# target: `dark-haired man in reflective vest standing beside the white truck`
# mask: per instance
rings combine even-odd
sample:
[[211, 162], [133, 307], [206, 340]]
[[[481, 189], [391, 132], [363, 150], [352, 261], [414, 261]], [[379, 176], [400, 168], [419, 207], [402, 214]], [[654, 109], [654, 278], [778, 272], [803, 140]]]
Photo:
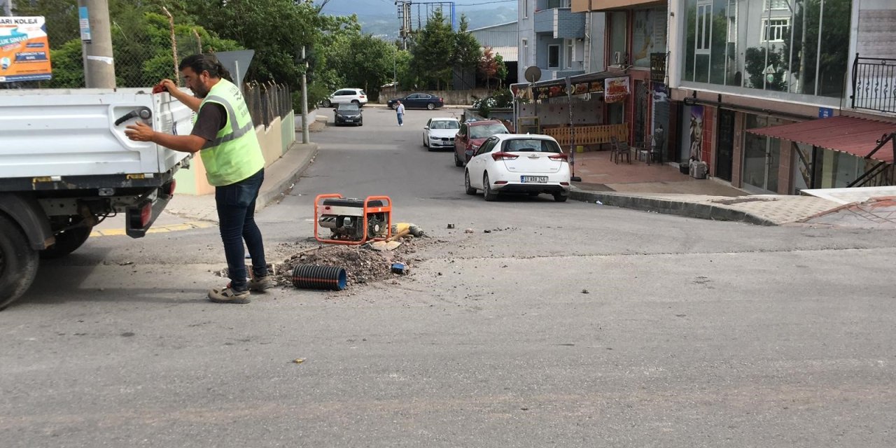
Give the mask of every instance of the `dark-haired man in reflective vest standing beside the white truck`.
[[[194, 97], [162, 80], [155, 90], [167, 90], [197, 112], [193, 132], [171, 135], [153, 131], [142, 122], [127, 126], [125, 134], [137, 142], [154, 142], [174, 151], [199, 152], [209, 184], [215, 187], [215, 202], [230, 283], [209, 290], [218, 303], [249, 303], [249, 290], [273, 286], [264, 260], [262, 232], [254, 220], [255, 200], [264, 180], [264, 157], [252, 116], [239, 88], [228, 81], [229, 73], [211, 55], [187, 56], [178, 69]], [[246, 253], [252, 257], [253, 278], [246, 281]]]

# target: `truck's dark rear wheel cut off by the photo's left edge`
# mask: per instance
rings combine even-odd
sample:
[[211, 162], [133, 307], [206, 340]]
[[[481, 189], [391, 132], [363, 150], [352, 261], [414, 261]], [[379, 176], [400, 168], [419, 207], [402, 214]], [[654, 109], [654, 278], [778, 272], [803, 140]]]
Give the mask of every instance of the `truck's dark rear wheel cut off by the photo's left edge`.
[[0, 310], [22, 296], [38, 272], [38, 251], [22, 228], [0, 215]]

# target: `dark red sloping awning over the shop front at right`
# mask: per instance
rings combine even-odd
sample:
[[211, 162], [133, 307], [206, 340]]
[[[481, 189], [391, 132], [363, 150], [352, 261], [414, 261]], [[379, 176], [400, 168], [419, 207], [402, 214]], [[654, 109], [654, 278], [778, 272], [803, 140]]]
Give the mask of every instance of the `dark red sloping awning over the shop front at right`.
[[[866, 157], [874, 151], [877, 141], [884, 134], [896, 133], [896, 123], [854, 116], [833, 116], [791, 125], [747, 129], [746, 132]], [[871, 158], [893, 163], [893, 151], [890, 148], [881, 148], [881, 151], [874, 152]]]

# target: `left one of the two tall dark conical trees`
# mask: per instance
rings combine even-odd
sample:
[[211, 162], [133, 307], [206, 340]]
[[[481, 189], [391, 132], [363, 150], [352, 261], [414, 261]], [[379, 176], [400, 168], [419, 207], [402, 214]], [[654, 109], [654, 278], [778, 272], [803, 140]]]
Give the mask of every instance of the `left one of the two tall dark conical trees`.
[[418, 78], [435, 83], [435, 89], [441, 90], [451, 79], [454, 43], [451, 24], [445, 22], [442, 10], [435, 10], [411, 42], [411, 69]]

